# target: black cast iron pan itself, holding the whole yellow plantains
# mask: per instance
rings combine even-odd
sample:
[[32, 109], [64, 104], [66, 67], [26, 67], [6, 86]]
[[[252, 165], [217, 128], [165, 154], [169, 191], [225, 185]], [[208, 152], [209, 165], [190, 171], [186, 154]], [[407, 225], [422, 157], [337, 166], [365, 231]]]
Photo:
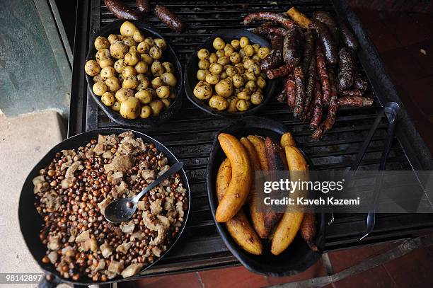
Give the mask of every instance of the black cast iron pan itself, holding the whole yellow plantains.
[[[262, 117], [246, 117], [238, 122], [221, 129], [219, 133], [229, 133], [240, 139], [250, 134], [258, 134], [263, 137], [271, 137], [275, 142], [279, 143], [281, 135], [288, 132], [287, 127], [279, 122], [269, 120]], [[303, 152], [304, 153], [304, 152]], [[305, 154], [304, 154], [305, 156]], [[238, 244], [233, 241], [230, 234], [226, 230], [224, 223], [219, 223], [215, 220], [215, 212], [217, 211], [217, 195], [215, 191], [215, 181], [217, 172], [222, 161], [226, 158], [224, 151], [219, 145], [217, 137], [215, 137], [212, 151], [207, 164], [206, 182], [207, 196], [209, 198], [209, 206], [212, 210], [215, 224], [219, 235], [223, 239], [227, 248], [238, 258], [238, 260], [251, 272], [271, 277], [284, 277], [295, 275], [299, 272], [311, 267], [316, 261], [321, 258], [321, 252], [313, 252], [308, 248], [306, 242], [299, 236], [296, 236], [291, 245], [278, 256], [270, 253], [270, 243], [262, 241], [263, 254], [253, 255], [246, 250], [243, 250]], [[306, 157], [308, 166], [312, 170], [312, 163]], [[247, 213], [248, 215], [248, 213]], [[320, 251], [323, 251], [325, 246], [325, 214], [318, 214], [318, 227], [315, 243]]]

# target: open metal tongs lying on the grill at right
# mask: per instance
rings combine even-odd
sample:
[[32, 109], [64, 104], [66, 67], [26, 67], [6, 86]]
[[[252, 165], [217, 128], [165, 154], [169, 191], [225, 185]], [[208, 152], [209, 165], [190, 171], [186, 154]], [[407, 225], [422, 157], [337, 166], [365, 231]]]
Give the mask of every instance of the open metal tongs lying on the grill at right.
[[379, 126], [379, 123], [381, 122], [381, 118], [383, 116], [383, 113], [386, 116], [386, 119], [388, 119], [389, 125], [386, 135], [386, 142], [385, 142], [385, 149], [383, 149], [381, 161], [379, 163], [379, 173], [375, 179], [374, 182], [374, 191], [372, 195], [372, 201], [369, 208], [369, 213], [367, 214], [366, 219], [366, 233], [362, 238], [359, 240], [364, 239], [366, 236], [368, 236], [371, 231], [374, 229], [374, 224], [376, 222], [376, 210], [379, 205], [379, 196], [381, 192], [381, 186], [382, 186], [382, 180], [383, 180], [383, 171], [386, 168], [386, 161], [388, 159], [389, 151], [391, 150], [391, 145], [393, 144], [393, 137], [394, 137], [394, 131], [396, 129], [396, 118], [398, 115], [398, 111], [400, 110], [400, 105], [395, 102], [388, 102], [385, 105], [385, 108], [381, 110], [379, 115], [377, 115], [376, 120], [374, 120], [374, 124], [371, 127], [369, 134], [367, 135], [364, 143], [361, 146], [361, 149], [359, 150], [357, 154], [357, 158], [352, 164], [352, 167], [350, 167], [350, 171], [356, 171], [359, 164], [362, 161], [362, 158], [364, 157], [364, 154], [366, 152], [366, 149], [369, 147], [369, 144], [371, 142], [371, 139], [373, 138], [374, 132], [376, 132], [377, 127]]

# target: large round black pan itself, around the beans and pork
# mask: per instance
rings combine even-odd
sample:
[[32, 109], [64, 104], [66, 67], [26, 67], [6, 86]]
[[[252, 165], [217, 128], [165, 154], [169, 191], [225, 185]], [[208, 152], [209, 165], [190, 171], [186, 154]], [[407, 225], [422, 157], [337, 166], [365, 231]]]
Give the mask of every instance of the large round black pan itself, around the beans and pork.
[[[42, 217], [40, 217], [40, 214], [37, 213], [35, 208], [35, 195], [33, 194], [32, 179], [35, 178], [37, 175], [39, 175], [40, 169], [45, 168], [50, 164], [50, 162], [54, 158], [54, 155], [57, 152], [63, 149], [76, 149], [79, 146], [82, 146], [83, 144], [90, 142], [91, 139], [98, 139], [98, 134], [103, 134], [103, 135], [120, 134], [122, 132], [127, 132], [127, 131], [129, 131], [129, 129], [104, 128], [104, 129], [96, 129], [96, 130], [84, 132], [74, 137], [68, 138], [63, 142], [54, 146], [36, 164], [36, 166], [32, 169], [32, 171], [30, 171], [29, 175], [25, 179], [23, 190], [21, 190], [20, 202], [18, 207], [18, 220], [20, 222], [21, 234], [23, 234], [25, 244], [27, 245], [28, 250], [30, 250], [30, 253], [32, 254], [37, 264], [39, 264], [42, 270], [55, 276], [54, 280], [52, 280], [51, 282], [45, 280], [44, 277], [42, 282], [40, 283], [40, 287], [55, 287], [60, 282], [69, 282], [71, 284], [78, 284], [78, 285], [89, 285], [89, 284], [98, 284], [98, 283], [103, 284], [103, 283], [123, 281], [122, 277], [116, 277], [115, 279], [107, 282], [93, 282], [91, 279], [88, 278], [82, 278], [79, 281], [75, 282], [72, 281], [70, 278], [65, 279], [64, 277], [60, 276], [59, 272], [55, 270], [54, 265], [52, 265], [51, 263], [49, 264], [42, 263], [42, 257], [45, 256], [45, 251], [47, 250], [47, 247], [44, 246], [39, 239], [40, 228], [42, 226], [43, 220]], [[136, 137], [142, 138], [144, 142], [154, 143], [156, 148], [167, 156], [169, 165], [173, 165], [173, 163], [178, 162], [178, 159], [171, 153], [171, 151], [168, 150], [166, 146], [163, 146], [163, 144], [161, 144], [160, 142], [147, 136], [146, 134], [142, 134], [136, 131], [132, 131], [132, 132]], [[182, 169], [179, 173], [182, 176], [183, 183], [185, 183], [185, 188], [187, 190], [187, 197], [188, 197], [188, 209], [185, 212], [184, 221], [182, 226], [180, 227], [180, 233], [173, 240], [172, 245], [168, 247], [166, 252], [164, 252], [163, 255], [161, 255], [161, 257], [158, 258], [154, 263], [151, 263], [150, 265], [144, 267], [142, 271], [147, 270], [150, 267], [152, 267], [155, 263], [158, 263], [158, 261], [161, 260], [164, 257], [164, 255], [166, 255], [168, 251], [171, 250], [171, 248], [173, 248], [173, 246], [175, 246], [175, 243], [178, 241], [180, 235], [183, 232], [183, 229], [185, 228], [188, 214], [190, 212], [190, 199], [191, 199], [190, 185], [188, 184], [185, 171]]]

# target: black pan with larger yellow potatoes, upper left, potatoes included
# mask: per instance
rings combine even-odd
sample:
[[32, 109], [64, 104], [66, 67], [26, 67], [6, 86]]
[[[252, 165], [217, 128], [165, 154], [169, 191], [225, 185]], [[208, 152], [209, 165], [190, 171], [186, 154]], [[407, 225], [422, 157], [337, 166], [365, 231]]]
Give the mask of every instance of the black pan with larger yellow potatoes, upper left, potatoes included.
[[84, 67], [88, 90], [110, 120], [149, 127], [178, 112], [182, 68], [155, 28], [140, 21], [114, 21], [92, 43]]

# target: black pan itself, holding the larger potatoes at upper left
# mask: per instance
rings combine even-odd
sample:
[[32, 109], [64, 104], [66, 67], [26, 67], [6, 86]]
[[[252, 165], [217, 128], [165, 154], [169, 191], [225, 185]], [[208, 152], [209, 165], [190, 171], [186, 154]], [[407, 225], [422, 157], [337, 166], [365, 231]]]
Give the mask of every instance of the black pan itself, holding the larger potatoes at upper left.
[[[91, 46], [89, 47], [89, 50], [88, 50], [88, 53], [86, 56], [86, 62], [88, 60], [94, 60], [95, 59], [96, 48], [95, 48], [95, 45], [93, 45], [93, 42], [95, 42], [95, 39], [98, 36], [103, 36], [105, 38], [108, 38], [108, 36], [110, 34], [120, 34], [120, 25], [122, 25], [122, 23], [124, 23], [124, 22], [125, 22], [125, 20], [114, 21], [114, 22], [106, 25], [104, 28], [99, 30], [98, 33], [96, 33], [93, 36], [92, 41], [91, 41]], [[151, 25], [149, 25], [147, 23], [143, 23], [140, 21], [134, 21], [134, 20], [129, 20], [129, 22], [134, 23], [134, 25], [136, 25], [137, 28], [142, 30], [145, 37], [164, 39], [162, 37], [162, 35], [157, 32], [156, 28], [152, 27]], [[166, 40], [166, 39], [164, 39], [164, 40]], [[88, 91], [91, 93], [93, 100], [95, 100], [96, 103], [98, 103], [99, 107], [105, 112], [105, 114], [107, 114], [107, 116], [112, 121], [116, 122], [117, 124], [129, 126], [129, 127], [149, 127], [149, 126], [153, 126], [153, 125], [159, 125], [162, 122], [165, 122], [166, 120], [171, 119], [171, 117], [173, 117], [173, 115], [175, 115], [175, 113], [178, 112], [178, 110], [180, 109], [180, 106], [182, 106], [182, 97], [183, 97], [183, 95], [182, 95], [182, 93], [183, 93], [182, 67], [180, 66], [180, 62], [178, 60], [178, 57], [176, 56], [173, 48], [171, 47], [171, 45], [168, 43], [167, 40], [166, 40], [166, 43], [167, 43], [167, 48], [163, 52], [163, 57], [160, 59], [160, 61], [161, 62], [165, 62], [165, 61], [171, 62], [171, 64], [173, 64], [173, 66], [175, 67], [175, 73], [174, 74], [176, 76], [176, 79], [178, 80], [178, 83], [176, 84], [176, 87], [175, 87], [177, 97], [171, 103], [170, 107], [168, 107], [168, 109], [161, 112], [158, 116], [151, 116], [151, 117], [146, 118], [146, 119], [142, 119], [140, 117], [138, 117], [137, 119], [134, 119], [134, 120], [125, 119], [124, 117], [122, 117], [120, 115], [120, 113], [115, 112], [110, 107], [105, 106], [104, 103], [102, 103], [102, 101], [100, 100], [100, 96], [97, 96], [95, 93], [93, 93], [93, 90], [92, 90], [93, 83], [94, 83], [93, 82], [93, 76], [88, 76], [86, 74]], [[84, 67], [83, 67], [83, 69], [84, 69]], [[150, 69], [150, 67], [149, 67], [149, 69]]]

